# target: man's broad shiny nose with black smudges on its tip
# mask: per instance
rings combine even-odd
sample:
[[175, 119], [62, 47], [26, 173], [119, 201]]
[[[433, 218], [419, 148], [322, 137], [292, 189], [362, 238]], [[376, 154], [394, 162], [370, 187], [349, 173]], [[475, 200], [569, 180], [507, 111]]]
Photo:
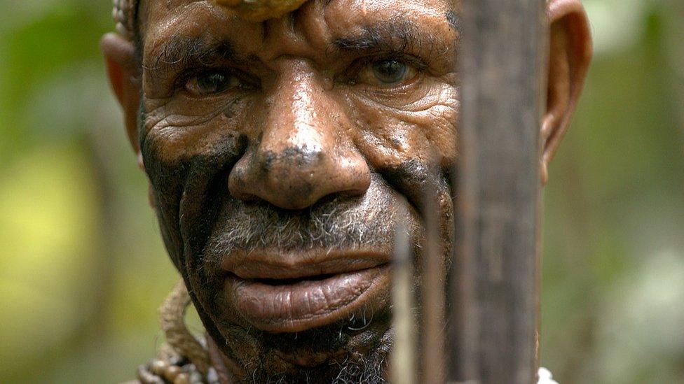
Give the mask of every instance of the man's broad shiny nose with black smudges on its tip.
[[345, 114], [309, 64], [288, 67], [267, 94], [261, 141], [231, 171], [231, 194], [285, 209], [332, 194], [363, 194], [370, 170], [348, 136]]

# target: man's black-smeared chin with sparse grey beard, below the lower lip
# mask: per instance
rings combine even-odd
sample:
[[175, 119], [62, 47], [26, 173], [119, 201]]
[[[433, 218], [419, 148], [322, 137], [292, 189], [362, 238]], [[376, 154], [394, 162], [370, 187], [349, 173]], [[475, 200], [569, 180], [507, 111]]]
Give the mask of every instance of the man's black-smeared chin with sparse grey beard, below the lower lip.
[[383, 383], [391, 347], [390, 311], [362, 313], [301, 332], [224, 325], [217, 336], [226, 366], [251, 383]]

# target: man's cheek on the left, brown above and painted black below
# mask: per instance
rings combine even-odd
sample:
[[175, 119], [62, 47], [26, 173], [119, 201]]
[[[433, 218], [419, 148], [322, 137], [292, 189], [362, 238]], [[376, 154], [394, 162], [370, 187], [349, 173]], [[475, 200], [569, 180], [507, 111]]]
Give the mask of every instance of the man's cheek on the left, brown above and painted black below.
[[146, 113], [140, 148], [165, 245], [182, 270], [182, 219], [184, 215], [191, 218], [187, 213], [193, 210], [188, 201], [183, 210], [184, 196], [193, 197], [189, 199], [191, 202], [204, 204], [202, 197], [207, 195], [210, 178], [230, 166], [242, 152], [244, 143], [238, 131], [231, 127], [236, 127], [242, 119], [244, 108], [237, 108], [239, 104], [221, 104], [223, 108], [213, 110], [221, 112], [209, 113], [201, 108], [176, 106], [170, 102]]

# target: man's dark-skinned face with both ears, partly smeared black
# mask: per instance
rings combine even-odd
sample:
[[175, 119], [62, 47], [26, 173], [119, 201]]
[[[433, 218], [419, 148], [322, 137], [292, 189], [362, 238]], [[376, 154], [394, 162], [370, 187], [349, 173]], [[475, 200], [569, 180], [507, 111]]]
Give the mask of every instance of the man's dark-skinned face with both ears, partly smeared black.
[[[425, 191], [451, 247], [458, 8], [308, 1], [249, 22], [206, 1], [143, 0], [137, 50], [102, 39], [224, 380], [385, 376], [394, 228], [406, 222], [420, 244]], [[548, 16], [541, 183], [591, 57], [578, 0], [550, 1]]]

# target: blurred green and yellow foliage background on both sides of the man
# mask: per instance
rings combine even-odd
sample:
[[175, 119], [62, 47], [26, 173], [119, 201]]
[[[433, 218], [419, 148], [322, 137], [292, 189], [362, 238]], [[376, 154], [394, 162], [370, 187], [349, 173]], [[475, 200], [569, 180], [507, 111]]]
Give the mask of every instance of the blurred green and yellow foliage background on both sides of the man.
[[[684, 2], [584, 4], [596, 55], [545, 190], [541, 361], [561, 383], [684, 383]], [[118, 383], [163, 341], [177, 275], [97, 48], [110, 14], [0, 2], [1, 383]]]

